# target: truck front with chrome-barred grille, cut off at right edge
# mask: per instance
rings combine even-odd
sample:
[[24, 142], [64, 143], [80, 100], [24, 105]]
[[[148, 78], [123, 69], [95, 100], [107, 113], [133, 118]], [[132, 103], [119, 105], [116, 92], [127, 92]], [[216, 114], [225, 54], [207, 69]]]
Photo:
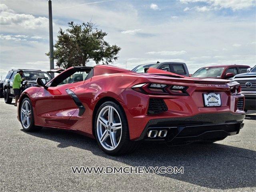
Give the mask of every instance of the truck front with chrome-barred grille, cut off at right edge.
[[256, 110], [256, 66], [249, 72], [234, 76], [234, 81], [240, 83], [245, 96], [245, 111]]

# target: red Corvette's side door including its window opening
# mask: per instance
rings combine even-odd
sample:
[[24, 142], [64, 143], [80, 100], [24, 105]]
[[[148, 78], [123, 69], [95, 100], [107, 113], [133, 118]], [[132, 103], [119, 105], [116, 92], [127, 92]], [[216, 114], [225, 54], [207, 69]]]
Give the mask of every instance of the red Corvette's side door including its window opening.
[[35, 102], [39, 125], [67, 129], [71, 127], [68, 121], [79, 108], [72, 93], [84, 84], [87, 74], [88, 70], [71, 68], [54, 78], [47, 85], [47, 90], [39, 90]]

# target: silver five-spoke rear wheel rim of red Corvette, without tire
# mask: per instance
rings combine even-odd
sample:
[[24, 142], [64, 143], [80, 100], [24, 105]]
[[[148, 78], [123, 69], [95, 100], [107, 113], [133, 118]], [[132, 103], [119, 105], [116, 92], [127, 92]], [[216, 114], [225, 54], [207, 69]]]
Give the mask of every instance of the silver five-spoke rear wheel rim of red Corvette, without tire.
[[96, 129], [100, 144], [106, 150], [114, 150], [118, 146], [122, 136], [122, 122], [114, 107], [105, 106], [100, 110]]

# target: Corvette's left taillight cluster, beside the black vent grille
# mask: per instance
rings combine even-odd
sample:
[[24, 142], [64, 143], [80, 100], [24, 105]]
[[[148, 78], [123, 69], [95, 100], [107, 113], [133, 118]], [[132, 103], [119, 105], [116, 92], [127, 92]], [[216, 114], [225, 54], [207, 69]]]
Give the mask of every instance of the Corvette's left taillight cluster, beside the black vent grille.
[[188, 95], [186, 86], [144, 83], [132, 86], [134, 91], [153, 95]]

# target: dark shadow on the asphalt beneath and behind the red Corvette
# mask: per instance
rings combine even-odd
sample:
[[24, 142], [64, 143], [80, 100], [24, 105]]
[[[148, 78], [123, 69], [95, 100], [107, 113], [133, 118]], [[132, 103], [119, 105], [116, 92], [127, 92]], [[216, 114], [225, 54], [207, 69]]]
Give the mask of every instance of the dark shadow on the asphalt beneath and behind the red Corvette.
[[[143, 143], [132, 154], [108, 156], [98, 148], [96, 140], [65, 130], [43, 128], [27, 134], [68, 146], [90, 150], [129, 166], [184, 166], [184, 174], [159, 174], [198, 186], [213, 189], [255, 187], [256, 153], [252, 150], [223, 144], [190, 144], [168, 147], [165, 144]], [[77, 165], [83, 166], [83, 165]], [[108, 166], [107, 164], [102, 166]]]

